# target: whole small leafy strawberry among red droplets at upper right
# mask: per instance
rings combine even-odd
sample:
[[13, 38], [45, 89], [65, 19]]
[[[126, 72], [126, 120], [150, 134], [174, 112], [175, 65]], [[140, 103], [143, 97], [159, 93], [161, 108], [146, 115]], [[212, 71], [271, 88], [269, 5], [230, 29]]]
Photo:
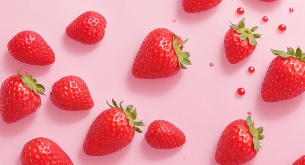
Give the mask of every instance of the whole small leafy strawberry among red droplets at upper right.
[[225, 51], [229, 62], [236, 64], [253, 53], [257, 46], [255, 38], [260, 38], [261, 35], [253, 34], [257, 26], [252, 29], [245, 27], [245, 18], [238, 25], [231, 23], [230, 27], [225, 36]]

